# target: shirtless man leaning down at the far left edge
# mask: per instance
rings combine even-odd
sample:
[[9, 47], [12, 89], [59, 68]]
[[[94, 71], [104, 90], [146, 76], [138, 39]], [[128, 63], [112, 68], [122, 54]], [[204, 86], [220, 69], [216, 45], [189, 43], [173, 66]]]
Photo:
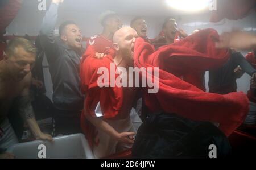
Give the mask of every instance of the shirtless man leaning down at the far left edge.
[[[7, 45], [4, 59], [0, 61], [0, 150], [18, 143], [7, 113], [11, 103], [18, 102], [19, 113], [39, 140], [53, 140], [51, 135], [40, 131], [30, 103], [29, 89], [31, 69], [35, 63], [36, 48], [24, 38], [15, 38]], [[0, 157], [14, 157], [9, 153]]]

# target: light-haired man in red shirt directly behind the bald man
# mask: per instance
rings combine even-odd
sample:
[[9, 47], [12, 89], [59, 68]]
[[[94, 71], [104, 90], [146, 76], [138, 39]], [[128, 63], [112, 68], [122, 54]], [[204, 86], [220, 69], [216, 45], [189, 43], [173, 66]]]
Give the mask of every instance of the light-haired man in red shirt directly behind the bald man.
[[113, 44], [113, 35], [122, 26], [121, 19], [113, 11], [106, 11], [100, 16], [100, 23], [103, 27], [101, 34], [92, 36], [88, 42], [87, 47], [92, 45], [95, 52], [108, 53], [108, 50]]

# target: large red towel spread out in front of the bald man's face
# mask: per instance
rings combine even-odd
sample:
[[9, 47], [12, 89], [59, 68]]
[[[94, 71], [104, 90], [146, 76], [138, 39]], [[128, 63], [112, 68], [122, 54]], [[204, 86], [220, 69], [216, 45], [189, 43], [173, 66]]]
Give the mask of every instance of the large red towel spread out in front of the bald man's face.
[[[218, 38], [215, 30], [202, 30], [158, 51], [142, 38], [137, 39], [134, 48], [135, 67], [159, 67], [159, 92], [144, 93], [148, 109], [176, 113], [195, 121], [219, 122], [220, 129], [227, 136], [242, 124], [249, 110], [245, 94], [205, 93], [176, 77], [187, 76], [195, 71], [204, 72], [225, 63], [230, 55], [227, 50], [215, 48]], [[154, 77], [147, 78], [156, 81]], [[198, 81], [193, 80], [194, 83]]]

